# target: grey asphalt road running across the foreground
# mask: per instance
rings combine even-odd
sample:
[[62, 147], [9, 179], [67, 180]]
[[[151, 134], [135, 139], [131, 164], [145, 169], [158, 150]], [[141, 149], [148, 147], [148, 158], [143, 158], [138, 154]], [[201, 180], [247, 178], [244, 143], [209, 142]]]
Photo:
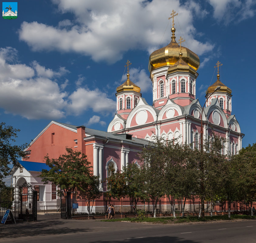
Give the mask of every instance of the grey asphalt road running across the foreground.
[[37, 222], [1, 225], [0, 236], [6, 243], [256, 243], [256, 220], [166, 225], [42, 216]]

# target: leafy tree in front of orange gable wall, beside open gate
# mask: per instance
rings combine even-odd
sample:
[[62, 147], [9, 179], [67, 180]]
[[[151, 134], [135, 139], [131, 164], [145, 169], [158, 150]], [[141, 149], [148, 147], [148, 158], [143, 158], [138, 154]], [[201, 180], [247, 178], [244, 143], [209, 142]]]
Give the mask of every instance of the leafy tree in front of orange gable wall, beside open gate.
[[81, 151], [73, 151], [66, 148], [67, 153], [62, 154], [57, 159], [50, 159], [48, 154], [45, 163], [50, 170], [42, 170], [42, 181], [45, 184], [53, 182], [60, 189], [71, 191], [73, 198], [75, 193], [86, 196], [87, 200], [95, 199], [99, 193], [99, 178], [92, 173], [92, 166], [87, 160], [87, 156]]

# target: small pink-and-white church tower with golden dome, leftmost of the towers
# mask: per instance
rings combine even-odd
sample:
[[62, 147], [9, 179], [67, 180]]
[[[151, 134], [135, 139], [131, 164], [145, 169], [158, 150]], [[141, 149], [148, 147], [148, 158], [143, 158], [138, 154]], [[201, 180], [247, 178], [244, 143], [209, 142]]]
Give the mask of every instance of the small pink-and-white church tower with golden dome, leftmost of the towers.
[[127, 60], [127, 80], [116, 89], [116, 109], [117, 113], [123, 118], [127, 119], [131, 110], [138, 104], [139, 98], [141, 97], [140, 87], [135, 85], [130, 80], [129, 65], [131, 62]]

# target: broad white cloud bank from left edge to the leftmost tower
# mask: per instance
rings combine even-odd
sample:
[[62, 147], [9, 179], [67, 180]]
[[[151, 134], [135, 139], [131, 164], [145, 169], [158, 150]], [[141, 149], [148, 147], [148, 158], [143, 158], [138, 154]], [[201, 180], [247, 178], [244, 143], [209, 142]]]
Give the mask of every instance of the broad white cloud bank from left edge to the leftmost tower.
[[[68, 72], [64, 67], [54, 71], [36, 61], [30, 66], [10, 64], [7, 60], [13, 60], [10, 58], [12, 55], [17, 57], [16, 49], [0, 49], [0, 107], [5, 113], [27, 119], [56, 120], [65, 117], [70, 109], [74, 110], [76, 115], [90, 108], [103, 114], [112, 112], [113, 107], [115, 109], [115, 102], [109, 99], [107, 94], [100, 95], [98, 89], [77, 89], [68, 96], [63, 91], [69, 82], [68, 79], [60, 86], [55, 80]], [[79, 104], [80, 102], [82, 104]], [[100, 121], [99, 123], [103, 124]]]

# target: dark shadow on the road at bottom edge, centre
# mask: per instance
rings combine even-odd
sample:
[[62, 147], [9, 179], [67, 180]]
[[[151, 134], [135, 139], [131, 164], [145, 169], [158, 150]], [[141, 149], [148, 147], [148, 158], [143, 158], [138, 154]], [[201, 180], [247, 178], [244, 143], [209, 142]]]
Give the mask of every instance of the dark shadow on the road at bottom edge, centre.
[[126, 240], [121, 240], [121, 241], [91, 241], [91, 243], [121, 243], [121, 242], [126, 242], [126, 243], [142, 243], [142, 242], [147, 242], [147, 243], [202, 243], [203, 241], [192, 241], [192, 240], [186, 240], [183, 238], [178, 238], [178, 237], [170, 237], [170, 236], [160, 236], [160, 237], [143, 237], [143, 238], [130, 238]]

